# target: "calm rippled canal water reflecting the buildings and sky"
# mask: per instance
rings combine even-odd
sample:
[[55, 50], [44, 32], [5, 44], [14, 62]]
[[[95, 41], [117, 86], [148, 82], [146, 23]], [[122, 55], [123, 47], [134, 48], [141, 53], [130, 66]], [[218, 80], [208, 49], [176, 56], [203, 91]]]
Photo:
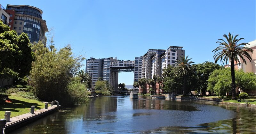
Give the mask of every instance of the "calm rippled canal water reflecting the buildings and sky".
[[204, 101], [97, 97], [12, 133], [256, 133], [255, 112]]

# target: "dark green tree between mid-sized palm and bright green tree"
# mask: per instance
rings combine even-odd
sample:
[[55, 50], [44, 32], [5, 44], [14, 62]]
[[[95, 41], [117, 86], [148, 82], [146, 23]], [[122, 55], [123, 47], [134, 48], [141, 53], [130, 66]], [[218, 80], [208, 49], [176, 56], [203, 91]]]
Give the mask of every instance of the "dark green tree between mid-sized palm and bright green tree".
[[215, 64], [213, 62], [204, 62], [196, 65], [196, 85], [198, 91], [202, 92], [205, 95], [207, 89], [207, 80], [209, 79], [210, 74], [216, 69], [222, 69], [223, 66]]

